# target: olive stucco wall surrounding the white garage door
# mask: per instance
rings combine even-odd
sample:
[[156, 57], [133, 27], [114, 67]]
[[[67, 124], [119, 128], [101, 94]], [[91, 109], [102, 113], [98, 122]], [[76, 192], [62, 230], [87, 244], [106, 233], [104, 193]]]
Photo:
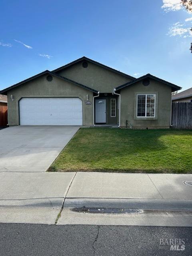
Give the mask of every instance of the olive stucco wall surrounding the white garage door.
[[[93, 92], [55, 76], [51, 82], [48, 82], [46, 76], [47, 74], [8, 91], [8, 124], [19, 125], [19, 100], [23, 97], [78, 97], [82, 100], [83, 125], [92, 125]], [[11, 94], [14, 96], [14, 101], [10, 98]], [[89, 101], [92, 102], [91, 105], [86, 105], [87, 94]]]

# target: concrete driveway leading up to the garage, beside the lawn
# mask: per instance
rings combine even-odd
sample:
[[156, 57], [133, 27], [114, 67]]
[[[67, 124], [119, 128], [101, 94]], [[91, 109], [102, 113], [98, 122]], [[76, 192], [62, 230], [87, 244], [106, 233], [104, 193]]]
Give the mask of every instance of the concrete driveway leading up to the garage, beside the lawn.
[[0, 172], [45, 172], [79, 126], [13, 126], [0, 130]]

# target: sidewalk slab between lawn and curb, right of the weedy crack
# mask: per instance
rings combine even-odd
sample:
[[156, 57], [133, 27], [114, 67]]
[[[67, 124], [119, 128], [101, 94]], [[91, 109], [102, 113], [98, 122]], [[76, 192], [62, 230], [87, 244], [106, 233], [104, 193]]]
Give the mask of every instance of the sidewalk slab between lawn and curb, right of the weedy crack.
[[78, 172], [69, 198], [192, 199], [192, 174]]

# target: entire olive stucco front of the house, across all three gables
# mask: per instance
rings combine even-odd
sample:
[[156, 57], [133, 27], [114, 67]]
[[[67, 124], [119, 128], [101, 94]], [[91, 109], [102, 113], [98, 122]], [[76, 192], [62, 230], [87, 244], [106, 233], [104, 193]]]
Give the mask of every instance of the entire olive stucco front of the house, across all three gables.
[[[127, 82], [124, 79], [128, 80], [128, 78], [122, 78], [121, 76], [119, 78], [118, 74], [101, 68], [101, 70], [104, 70], [101, 71], [103, 76], [106, 72], [109, 72], [109, 74], [107, 73], [106, 77], [104, 77], [102, 80], [101, 78], [98, 78], [99, 71], [97, 70], [97, 66], [95, 64], [90, 63], [88, 67], [90, 67], [90, 71], [88, 71], [87, 75], [84, 75], [84, 70], [87, 72], [88, 68], [82, 68], [82, 64], [79, 66], [77, 64], [76, 69], [72, 67], [71, 71], [68, 70], [68, 78], [77, 80], [77, 82], [81, 82], [82, 84], [99, 90], [99, 88], [96, 88], [95, 85], [93, 86], [93, 84], [90, 84], [90, 82], [93, 82], [98, 86], [103, 86], [105, 88], [103, 89], [103, 92], [105, 92], [104, 90], [113, 90], [113, 88], [117, 86], [117, 80], [121, 80], [120, 84]], [[77, 76], [75, 75], [75, 70], [77, 70]], [[90, 78], [88, 78], [89, 72], [92, 73]], [[51, 82], [48, 82], [46, 80], [46, 76], [47, 74], [8, 91], [8, 124], [10, 126], [19, 125], [19, 100], [23, 97], [78, 97], [82, 100], [83, 125], [93, 125], [93, 92], [70, 82], [66, 82], [55, 76], [53, 76], [53, 80]], [[114, 81], [114, 77], [116, 77], [116, 81]], [[77, 78], [79, 78], [79, 80]], [[124, 81], [122, 82], [122, 80]], [[106, 84], [107, 86], [105, 86]], [[143, 86], [141, 81], [118, 91], [118, 93], [120, 92], [121, 94], [120, 125], [126, 126], [126, 120], [128, 120], [128, 126], [131, 124], [133, 128], [169, 128], [171, 118], [171, 90], [172, 88], [170, 86], [150, 79], [149, 86]], [[14, 96], [14, 101], [12, 101], [10, 98], [11, 94]], [[86, 105], [87, 94], [89, 96], [89, 101], [92, 102], [91, 105]], [[156, 115], [154, 118], [143, 118], [136, 116], [137, 94], [156, 94]], [[106, 98], [108, 98], [106, 109], [108, 113], [107, 123], [118, 123], [118, 98], [117, 96], [110, 96]], [[115, 118], [110, 118], [109, 116], [110, 98], [116, 98]]]

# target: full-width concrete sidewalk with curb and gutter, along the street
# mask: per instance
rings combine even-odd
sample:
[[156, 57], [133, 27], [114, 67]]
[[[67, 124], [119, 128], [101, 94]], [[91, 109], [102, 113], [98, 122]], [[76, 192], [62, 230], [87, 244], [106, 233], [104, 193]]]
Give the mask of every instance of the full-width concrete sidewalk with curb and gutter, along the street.
[[[192, 226], [192, 174], [0, 173], [0, 222]], [[141, 214], [77, 208], [139, 209]]]

